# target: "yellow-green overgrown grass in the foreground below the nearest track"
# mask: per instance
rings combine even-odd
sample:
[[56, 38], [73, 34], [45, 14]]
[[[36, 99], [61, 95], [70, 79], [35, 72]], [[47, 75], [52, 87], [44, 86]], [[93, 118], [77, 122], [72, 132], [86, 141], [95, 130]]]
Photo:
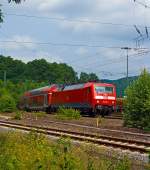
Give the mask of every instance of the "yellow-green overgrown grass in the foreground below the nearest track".
[[[88, 151], [87, 151], [88, 150]], [[69, 139], [50, 142], [31, 132], [0, 134], [0, 170], [130, 170], [128, 158], [92, 155], [93, 147], [72, 146]]]

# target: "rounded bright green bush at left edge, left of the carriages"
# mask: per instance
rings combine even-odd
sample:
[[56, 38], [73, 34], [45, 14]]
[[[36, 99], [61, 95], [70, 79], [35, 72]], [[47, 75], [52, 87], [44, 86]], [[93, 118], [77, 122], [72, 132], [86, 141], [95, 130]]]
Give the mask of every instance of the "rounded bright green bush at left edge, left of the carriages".
[[8, 94], [4, 94], [0, 97], [0, 111], [1, 112], [13, 112], [16, 110], [16, 102]]

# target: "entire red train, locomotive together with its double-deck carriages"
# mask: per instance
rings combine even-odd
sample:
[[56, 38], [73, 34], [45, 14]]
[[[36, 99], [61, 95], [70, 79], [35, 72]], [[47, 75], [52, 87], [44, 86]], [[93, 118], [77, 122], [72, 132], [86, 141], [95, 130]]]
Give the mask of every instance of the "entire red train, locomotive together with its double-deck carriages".
[[66, 86], [53, 84], [25, 92], [18, 106], [26, 111], [48, 113], [65, 107], [79, 109], [81, 113], [104, 116], [116, 109], [116, 87], [95, 82]]

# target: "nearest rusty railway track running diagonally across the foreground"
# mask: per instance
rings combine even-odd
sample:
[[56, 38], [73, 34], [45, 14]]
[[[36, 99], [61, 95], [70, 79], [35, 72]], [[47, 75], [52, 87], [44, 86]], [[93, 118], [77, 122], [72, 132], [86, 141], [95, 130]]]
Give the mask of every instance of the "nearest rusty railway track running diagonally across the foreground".
[[9, 121], [0, 121], [1, 127], [13, 128], [24, 131], [34, 131], [50, 136], [57, 137], [70, 137], [73, 140], [90, 142], [98, 145], [111, 146], [114, 148], [121, 148], [124, 150], [137, 151], [140, 153], [146, 153], [150, 149], [150, 142], [143, 142], [139, 140], [129, 140], [121, 139], [118, 137], [110, 137], [106, 135], [97, 136], [95, 134], [80, 133], [80, 132], [70, 132], [67, 130], [56, 129], [56, 128], [47, 128], [33, 125], [23, 125], [19, 123], [13, 123]]

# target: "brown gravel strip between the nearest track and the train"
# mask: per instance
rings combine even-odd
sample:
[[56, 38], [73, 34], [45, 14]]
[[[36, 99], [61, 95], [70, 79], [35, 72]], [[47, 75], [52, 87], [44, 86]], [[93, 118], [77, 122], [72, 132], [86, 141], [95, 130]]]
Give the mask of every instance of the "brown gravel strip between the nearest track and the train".
[[[66, 129], [68, 131], [94, 133], [97, 136], [108, 135], [113, 137], [121, 137], [125, 139], [150, 141], [150, 133], [145, 133], [144, 131], [135, 128], [123, 127], [123, 121], [120, 119], [102, 119], [101, 124], [97, 128], [96, 118], [91, 118], [91, 117], [81, 117], [79, 120], [58, 120], [56, 119], [56, 116], [54, 114], [46, 114], [42, 117], [36, 117], [35, 114], [33, 113], [24, 113], [22, 120], [14, 120], [12, 119], [14, 117], [14, 114], [15, 113], [0, 114], [0, 119], [3, 120], [5, 119], [9, 121], [11, 120], [13, 122], [23, 123], [23, 124], [38, 125], [42, 127]], [[62, 124], [62, 123], [66, 123], [66, 124]], [[114, 131], [109, 131], [107, 129], [114, 130]], [[119, 132], [118, 130], [120, 130], [121, 132]], [[124, 131], [125, 133], [123, 133], [122, 131]], [[149, 137], [138, 136], [136, 134], [131, 135], [131, 134], [127, 134], [126, 132], [149, 134]]]

